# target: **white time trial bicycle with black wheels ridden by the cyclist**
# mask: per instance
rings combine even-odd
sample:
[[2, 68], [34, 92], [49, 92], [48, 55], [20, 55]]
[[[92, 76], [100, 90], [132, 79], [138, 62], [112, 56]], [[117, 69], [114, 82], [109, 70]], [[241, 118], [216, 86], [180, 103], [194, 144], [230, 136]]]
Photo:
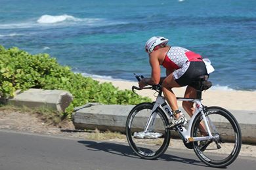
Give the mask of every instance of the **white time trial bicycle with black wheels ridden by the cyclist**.
[[[140, 80], [142, 76], [137, 76]], [[242, 135], [234, 116], [221, 107], [206, 107], [202, 104], [202, 91], [211, 86], [207, 76], [198, 77], [196, 98], [177, 97], [178, 101], [195, 103], [196, 110], [188, 123], [173, 130], [181, 137], [187, 148], [194, 149], [196, 156], [211, 167], [226, 167], [236, 158], [241, 149]], [[127, 117], [127, 141], [140, 158], [152, 160], [160, 157], [168, 148], [171, 130], [168, 125], [173, 112], [162, 96], [161, 85], [132, 90], [151, 89], [158, 93], [156, 101], [136, 105]], [[221, 154], [220, 154], [221, 153]]]

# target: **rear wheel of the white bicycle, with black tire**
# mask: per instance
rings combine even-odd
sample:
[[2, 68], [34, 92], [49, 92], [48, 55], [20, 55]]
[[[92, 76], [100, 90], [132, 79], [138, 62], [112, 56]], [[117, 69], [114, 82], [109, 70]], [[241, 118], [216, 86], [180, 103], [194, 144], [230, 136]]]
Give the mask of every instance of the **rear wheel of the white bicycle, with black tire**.
[[[234, 160], [236, 160], [238, 154], [240, 153], [242, 145], [242, 134], [240, 126], [236, 121], [236, 118], [234, 118], [234, 116], [230, 112], [228, 112], [228, 110], [221, 107], [208, 107], [207, 109], [205, 109], [205, 116], [210, 123], [209, 126], [212, 135], [215, 137], [218, 137], [219, 135], [219, 139], [215, 139], [213, 141], [206, 141], [204, 142], [204, 146], [203, 144], [202, 146], [200, 146], [200, 142], [194, 142], [194, 152], [196, 153], [196, 156], [198, 156], [198, 158], [203, 161], [203, 163], [209, 165], [210, 167], [226, 167], [230, 165], [230, 163], [232, 163]], [[222, 119], [222, 121], [219, 122], [219, 120], [217, 120], [216, 118]], [[215, 120], [215, 122], [213, 122], [213, 120]], [[202, 115], [198, 114], [192, 125], [192, 137], [198, 136], [201, 121]], [[224, 131], [224, 133], [219, 133], [219, 131]], [[213, 146], [213, 148], [211, 148], [211, 146]], [[227, 150], [229, 150], [229, 148], [232, 151], [225, 154], [221, 153], [221, 155], [219, 156], [216, 156], [212, 153], [215, 150], [219, 152], [219, 149], [221, 148], [224, 148], [225, 152], [228, 152]]]

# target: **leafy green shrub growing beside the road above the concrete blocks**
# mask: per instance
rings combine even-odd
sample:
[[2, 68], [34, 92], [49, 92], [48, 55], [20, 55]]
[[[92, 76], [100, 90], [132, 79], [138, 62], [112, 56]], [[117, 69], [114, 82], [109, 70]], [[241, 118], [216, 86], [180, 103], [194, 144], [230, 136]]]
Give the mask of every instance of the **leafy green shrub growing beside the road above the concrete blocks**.
[[88, 102], [103, 104], [135, 105], [150, 101], [135, 95], [131, 90], [118, 90], [111, 83], [102, 83], [90, 77], [73, 73], [70, 67], [59, 65], [49, 54], [29, 54], [16, 47], [0, 46], [0, 95], [13, 97], [16, 90], [42, 88], [68, 90], [74, 96], [66, 112]]

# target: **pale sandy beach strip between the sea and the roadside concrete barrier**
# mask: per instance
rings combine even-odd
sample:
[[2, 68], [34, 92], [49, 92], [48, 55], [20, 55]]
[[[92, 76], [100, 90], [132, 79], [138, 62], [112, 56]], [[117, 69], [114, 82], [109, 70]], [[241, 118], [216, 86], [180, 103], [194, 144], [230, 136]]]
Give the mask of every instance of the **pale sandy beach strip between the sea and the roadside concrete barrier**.
[[[124, 80], [105, 80], [100, 78], [94, 78], [100, 83], [112, 82], [114, 86], [119, 90], [131, 90], [132, 86], [138, 86], [138, 82], [124, 81]], [[173, 92], [177, 97], [183, 97], [186, 88], [173, 88]], [[152, 100], [154, 97], [153, 90], [141, 90], [137, 91], [138, 94], [146, 97], [150, 97]], [[202, 93], [202, 103], [207, 106], [219, 106], [228, 110], [253, 110], [256, 111], [256, 92], [239, 91], [239, 90], [207, 90]], [[181, 101], [178, 101], [179, 107], [181, 107]]]

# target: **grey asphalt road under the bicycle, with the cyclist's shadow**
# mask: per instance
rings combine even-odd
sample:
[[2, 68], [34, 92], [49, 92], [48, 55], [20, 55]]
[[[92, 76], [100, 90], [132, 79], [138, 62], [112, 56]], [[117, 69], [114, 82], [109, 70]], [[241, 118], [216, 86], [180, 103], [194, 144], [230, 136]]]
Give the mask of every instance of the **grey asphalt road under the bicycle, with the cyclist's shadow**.
[[[256, 159], [238, 156], [226, 169], [255, 169]], [[193, 150], [167, 150], [158, 160], [135, 156], [124, 143], [106, 143], [0, 130], [1, 170], [213, 169]]]

